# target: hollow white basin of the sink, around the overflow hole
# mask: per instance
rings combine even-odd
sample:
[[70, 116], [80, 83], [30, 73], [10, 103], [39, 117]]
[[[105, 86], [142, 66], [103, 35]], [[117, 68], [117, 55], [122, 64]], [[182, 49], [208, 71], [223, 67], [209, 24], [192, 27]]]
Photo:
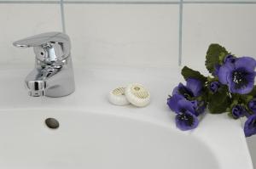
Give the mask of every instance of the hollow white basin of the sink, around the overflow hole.
[[[218, 168], [200, 139], [154, 121], [68, 110], [6, 110], [1, 115], [0, 168]], [[60, 127], [47, 127], [48, 117]]]

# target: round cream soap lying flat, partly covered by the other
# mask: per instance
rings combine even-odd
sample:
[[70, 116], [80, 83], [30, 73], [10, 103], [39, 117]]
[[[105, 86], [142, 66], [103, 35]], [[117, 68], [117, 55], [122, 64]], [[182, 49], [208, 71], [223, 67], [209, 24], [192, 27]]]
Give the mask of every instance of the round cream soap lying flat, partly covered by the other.
[[125, 97], [125, 87], [118, 87], [113, 89], [113, 91], [111, 91], [108, 94], [108, 101], [111, 104], [115, 104], [115, 105], [130, 104], [130, 102]]

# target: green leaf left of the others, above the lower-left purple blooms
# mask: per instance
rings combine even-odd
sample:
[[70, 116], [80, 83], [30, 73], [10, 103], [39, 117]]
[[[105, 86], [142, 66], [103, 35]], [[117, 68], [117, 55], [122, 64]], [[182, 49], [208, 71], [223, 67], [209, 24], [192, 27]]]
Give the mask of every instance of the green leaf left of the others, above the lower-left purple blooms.
[[194, 78], [194, 79], [197, 79], [197, 80], [199, 80], [203, 83], [207, 82], [207, 77], [206, 76], [201, 75], [201, 73], [199, 71], [192, 70], [187, 66], [183, 67], [183, 70], [182, 70], [181, 73], [182, 73], [185, 80], [187, 80], [189, 78]]

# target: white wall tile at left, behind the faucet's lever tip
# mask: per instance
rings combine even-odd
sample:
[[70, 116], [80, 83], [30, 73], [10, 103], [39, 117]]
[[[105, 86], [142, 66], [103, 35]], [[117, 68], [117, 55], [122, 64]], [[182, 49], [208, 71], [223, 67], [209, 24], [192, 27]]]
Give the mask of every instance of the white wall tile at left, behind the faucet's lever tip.
[[61, 31], [60, 5], [0, 3], [0, 65], [34, 63], [32, 48], [12, 43], [46, 31]]

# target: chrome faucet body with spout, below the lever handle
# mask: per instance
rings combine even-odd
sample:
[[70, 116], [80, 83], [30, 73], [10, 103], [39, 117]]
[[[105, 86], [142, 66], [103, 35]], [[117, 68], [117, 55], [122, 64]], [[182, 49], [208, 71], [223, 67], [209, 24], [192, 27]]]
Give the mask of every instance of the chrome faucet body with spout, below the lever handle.
[[73, 93], [75, 85], [71, 62], [70, 58], [58, 64], [44, 64], [39, 61], [37, 67], [26, 76], [29, 95], [58, 98]]

